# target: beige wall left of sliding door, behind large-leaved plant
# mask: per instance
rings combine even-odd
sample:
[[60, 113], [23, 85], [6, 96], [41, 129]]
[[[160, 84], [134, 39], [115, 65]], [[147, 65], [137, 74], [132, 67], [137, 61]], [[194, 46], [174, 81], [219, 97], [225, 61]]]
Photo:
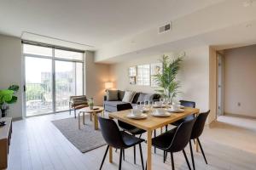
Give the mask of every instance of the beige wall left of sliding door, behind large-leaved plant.
[[17, 103], [10, 105], [8, 116], [22, 116], [22, 73], [21, 73], [21, 41], [20, 38], [0, 35], [0, 89], [11, 84], [20, 86]]

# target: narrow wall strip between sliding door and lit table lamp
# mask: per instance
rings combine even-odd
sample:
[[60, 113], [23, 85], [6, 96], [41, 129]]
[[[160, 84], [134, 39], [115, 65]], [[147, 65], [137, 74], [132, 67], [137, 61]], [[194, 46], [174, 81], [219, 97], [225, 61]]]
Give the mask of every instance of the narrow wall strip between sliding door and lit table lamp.
[[96, 64], [94, 53], [85, 52], [85, 94], [87, 98], [94, 98], [96, 105], [103, 104], [105, 94], [104, 82], [109, 82], [109, 65]]

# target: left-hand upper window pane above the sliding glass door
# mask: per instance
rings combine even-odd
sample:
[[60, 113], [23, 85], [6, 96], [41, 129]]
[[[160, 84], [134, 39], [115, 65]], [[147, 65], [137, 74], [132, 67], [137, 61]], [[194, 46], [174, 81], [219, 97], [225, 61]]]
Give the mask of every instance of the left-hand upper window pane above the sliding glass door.
[[23, 53], [52, 56], [52, 48], [44, 48], [35, 45], [23, 44]]

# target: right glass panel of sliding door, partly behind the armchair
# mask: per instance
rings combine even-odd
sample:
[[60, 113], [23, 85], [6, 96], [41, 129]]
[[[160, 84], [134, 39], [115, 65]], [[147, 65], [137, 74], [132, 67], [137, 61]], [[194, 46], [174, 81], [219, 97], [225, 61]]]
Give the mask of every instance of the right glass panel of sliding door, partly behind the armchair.
[[56, 111], [69, 109], [69, 97], [76, 95], [76, 63], [55, 61], [55, 108]]

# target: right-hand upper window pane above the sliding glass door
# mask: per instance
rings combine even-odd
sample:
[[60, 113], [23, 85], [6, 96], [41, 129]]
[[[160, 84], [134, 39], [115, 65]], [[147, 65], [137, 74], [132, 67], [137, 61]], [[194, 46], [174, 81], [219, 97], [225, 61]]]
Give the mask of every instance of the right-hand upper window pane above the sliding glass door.
[[55, 49], [55, 57], [62, 58], [62, 59], [84, 59], [84, 53], [78, 53], [73, 51], [66, 51], [61, 49]]

